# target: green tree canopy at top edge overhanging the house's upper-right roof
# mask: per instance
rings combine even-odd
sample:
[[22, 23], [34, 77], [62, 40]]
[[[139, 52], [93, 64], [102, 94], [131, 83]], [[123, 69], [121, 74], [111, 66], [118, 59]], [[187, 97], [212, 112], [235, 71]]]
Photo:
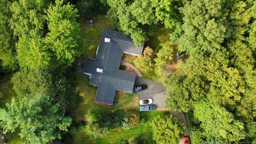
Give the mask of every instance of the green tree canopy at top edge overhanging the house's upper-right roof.
[[[131, 35], [135, 45], [148, 41], [148, 36], [156, 28], [158, 20], [168, 28], [179, 18], [178, 8], [182, 5], [169, 1], [128, 1], [107, 0], [109, 17], [116, 22], [117, 29]], [[160, 3], [161, 5], [159, 5]], [[178, 15], [177, 15], [178, 14]], [[175, 15], [175, 17], [173, 17]]]

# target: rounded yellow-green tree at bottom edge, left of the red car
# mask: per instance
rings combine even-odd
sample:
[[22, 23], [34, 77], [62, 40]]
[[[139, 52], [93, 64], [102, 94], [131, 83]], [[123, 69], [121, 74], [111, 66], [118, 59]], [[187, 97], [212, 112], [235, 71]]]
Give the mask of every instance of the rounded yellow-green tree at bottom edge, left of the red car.
[[159, 144], [179, 143], [185, 127], [177, 117], [159, 115], [151, 122], [153, 139]]

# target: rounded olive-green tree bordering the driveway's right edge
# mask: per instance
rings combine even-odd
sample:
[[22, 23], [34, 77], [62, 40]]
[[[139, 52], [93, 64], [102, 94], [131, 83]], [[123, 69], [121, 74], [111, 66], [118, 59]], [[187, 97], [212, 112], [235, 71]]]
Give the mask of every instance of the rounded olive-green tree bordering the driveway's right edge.
[[194, 103], [205, 97], [209, 85], [203, 74], [203, 61], [188, 59], [180, 61], [177, 72], [166, 78], [164, 85], [169, 90], [166, 106], [174, 111], [188, 111]]

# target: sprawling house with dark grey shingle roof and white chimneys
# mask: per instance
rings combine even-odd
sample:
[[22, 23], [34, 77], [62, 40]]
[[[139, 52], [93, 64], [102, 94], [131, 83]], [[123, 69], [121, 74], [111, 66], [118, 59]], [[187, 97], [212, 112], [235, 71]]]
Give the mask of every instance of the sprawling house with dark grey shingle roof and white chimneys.
[[113, 105], [116, 91], [133, 92], [136, 74], [119, 70], [123, 53], [141, 55], [143, 45], [137, 47], [129, 36], [115, 30], [104, 29], [95, 60], [86, 60], [83, 74], [89, 76], [90, 85], [98, 86], [95, 102]]

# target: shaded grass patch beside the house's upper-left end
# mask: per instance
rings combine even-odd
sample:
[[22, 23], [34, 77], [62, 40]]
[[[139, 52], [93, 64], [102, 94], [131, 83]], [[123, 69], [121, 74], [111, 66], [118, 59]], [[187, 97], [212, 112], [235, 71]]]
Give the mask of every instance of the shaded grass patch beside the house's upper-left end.
[[93, 21], [94, 24], [89, 24], [85, 18], [78, 19], [84, 42], [83, 54], [86, 59], [95, 58], [103, 29], [115, 29], [114, 23], [110, 21], [107, 15], [95, 14]]

